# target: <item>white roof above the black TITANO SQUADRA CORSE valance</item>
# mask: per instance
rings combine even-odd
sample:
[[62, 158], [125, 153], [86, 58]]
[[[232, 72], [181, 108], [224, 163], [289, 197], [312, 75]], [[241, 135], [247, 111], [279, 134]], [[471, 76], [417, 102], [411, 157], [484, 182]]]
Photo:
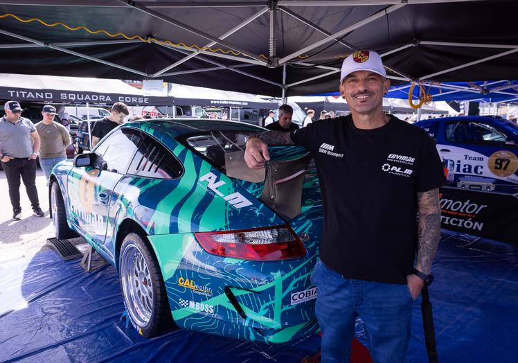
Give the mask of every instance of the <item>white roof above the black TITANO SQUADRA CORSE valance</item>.
[[30, 76], [0, 73], [0, 87], [24, 89], [59, 89], [63, 91], [100, 92], [105, 94], [141, 95], [141, 89], [127, 85], [122, 80], [58, 76]]

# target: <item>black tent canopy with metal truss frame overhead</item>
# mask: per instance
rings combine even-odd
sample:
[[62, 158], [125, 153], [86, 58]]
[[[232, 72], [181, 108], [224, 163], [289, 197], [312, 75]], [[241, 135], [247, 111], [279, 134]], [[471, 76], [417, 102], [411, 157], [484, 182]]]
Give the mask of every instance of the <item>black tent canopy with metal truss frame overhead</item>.
[[6, 73], [167, 82], [269, 96], [335, 91], [343, 57], [392, 82], [518, 78], [515, 0], [0, 0]]

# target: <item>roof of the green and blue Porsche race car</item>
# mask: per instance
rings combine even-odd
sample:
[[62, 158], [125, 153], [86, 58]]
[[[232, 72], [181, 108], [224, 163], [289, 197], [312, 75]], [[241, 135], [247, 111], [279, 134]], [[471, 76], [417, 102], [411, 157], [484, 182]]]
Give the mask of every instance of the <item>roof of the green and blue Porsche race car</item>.
[[158, 128], [170, 136], [212, 131], [265, 131], [262, 127], [237, 121], [214, 120], [212, 118], [148, 118], [130, 121], [124, 125], [138, 127], [144, 130]]

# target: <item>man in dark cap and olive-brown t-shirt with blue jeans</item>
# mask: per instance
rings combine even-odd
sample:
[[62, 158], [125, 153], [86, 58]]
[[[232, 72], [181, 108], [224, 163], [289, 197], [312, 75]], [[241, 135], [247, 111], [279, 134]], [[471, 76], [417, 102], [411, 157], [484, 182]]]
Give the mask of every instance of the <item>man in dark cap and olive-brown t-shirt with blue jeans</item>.
[[57, 115], [56, 108], [45, 105], [42, 109], [43, 119], [36, 124], [36, 130], [41, 139], [39, 148], [39, 163], [48, 181], [51, 171], [57, 163], [66, 160], [66, 147], [70, 145], [69, 130], [62, 124], [54, 121]]

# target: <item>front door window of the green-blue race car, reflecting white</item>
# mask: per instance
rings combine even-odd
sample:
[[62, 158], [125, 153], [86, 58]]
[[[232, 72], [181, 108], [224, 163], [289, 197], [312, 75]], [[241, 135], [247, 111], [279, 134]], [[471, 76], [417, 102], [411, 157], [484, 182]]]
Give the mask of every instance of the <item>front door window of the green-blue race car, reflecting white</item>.
[[103, 169], [124, 174], [142, 141], [139, 130], [123, 128], [102, 139], [93, 153], [100, 157]]

